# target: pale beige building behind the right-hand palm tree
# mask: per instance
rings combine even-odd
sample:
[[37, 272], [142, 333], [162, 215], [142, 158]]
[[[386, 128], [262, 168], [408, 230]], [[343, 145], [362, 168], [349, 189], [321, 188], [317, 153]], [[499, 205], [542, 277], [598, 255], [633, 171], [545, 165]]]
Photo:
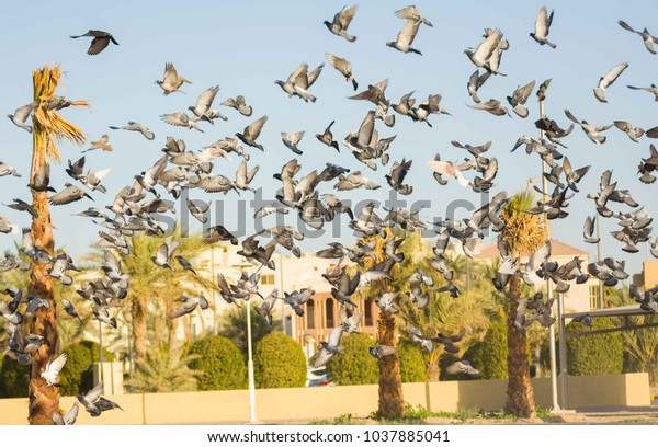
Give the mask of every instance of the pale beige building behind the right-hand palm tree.
[[[479, 254], [476, 254], [474, 259], [480, 262], [491, 262], [499, 256], [498, 248], [496, 244], [492, 244], [480, 249]], [[574, 256], [582, 260], [582, 268], [587, 272], [589, 254], [586, 251], [568, 245], [557, 239], [551, 239], [551, 260], [561, 265], [571, 261]], [[526, 261], [527, 259], [521, 260], [522, 263]], [[576, 282], [571, 282], [570, 284], [569, 291], [564, 294], [565, 312], [587, 312], [599, 307], [598, 279], [590, 277], [585, 284], [576, 284]], [[537, 287], [537, 289], [541, 287]]]

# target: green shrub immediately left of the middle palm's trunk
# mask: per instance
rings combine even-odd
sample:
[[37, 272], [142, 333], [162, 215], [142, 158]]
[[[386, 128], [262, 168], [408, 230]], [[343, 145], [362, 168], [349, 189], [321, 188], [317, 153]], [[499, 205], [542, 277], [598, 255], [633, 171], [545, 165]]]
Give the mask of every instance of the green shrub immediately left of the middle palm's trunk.
[[368, 385], [379, 380], [379, 366], [367, 348], [374, 344], [368, 334], [345, 334], [340, 341], [344, 347], [327, 364], [327, 369], [338, 385]]

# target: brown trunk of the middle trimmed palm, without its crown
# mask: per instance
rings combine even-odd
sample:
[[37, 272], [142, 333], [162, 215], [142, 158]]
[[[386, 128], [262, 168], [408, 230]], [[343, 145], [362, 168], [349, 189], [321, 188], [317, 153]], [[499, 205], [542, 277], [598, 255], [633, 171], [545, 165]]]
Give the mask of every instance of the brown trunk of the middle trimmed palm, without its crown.
[[[381, 344], [396, 346], [395, 319], [388, 312], [379, 312], [377, 321], [377, 340]], [[397, 354], [384, 356], [379, 360], [379, 417], [402, 417], [405, 415], [405, 398], [402, 397], [402, 378], [400, 360]]]

